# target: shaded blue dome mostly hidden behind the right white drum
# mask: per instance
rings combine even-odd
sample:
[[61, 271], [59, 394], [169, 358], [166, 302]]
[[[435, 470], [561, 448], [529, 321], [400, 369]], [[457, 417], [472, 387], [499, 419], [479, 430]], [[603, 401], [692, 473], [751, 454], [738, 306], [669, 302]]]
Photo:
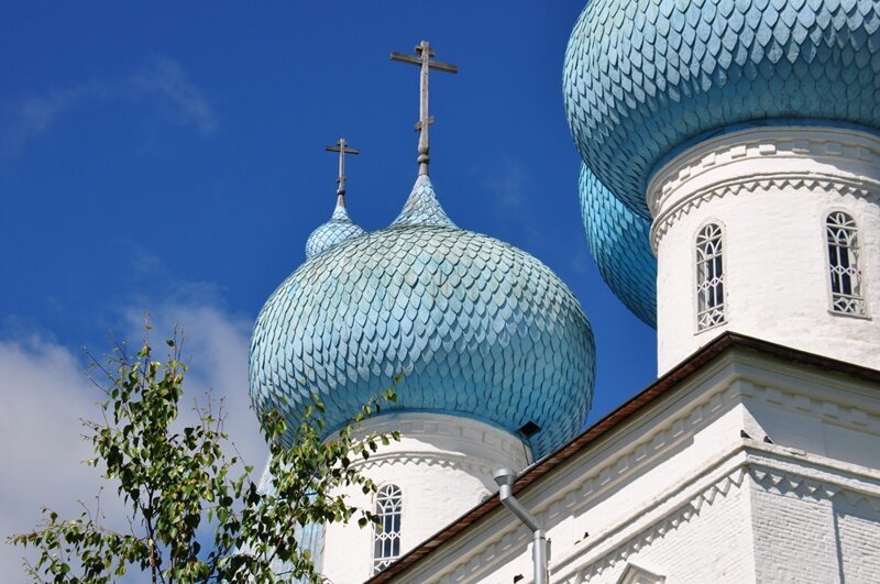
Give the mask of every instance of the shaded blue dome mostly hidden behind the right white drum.
[[657, 257], [651, 222], [615, 197], [581, 165], [581, 217], [602, 279], [646, 324], [657, 328]]

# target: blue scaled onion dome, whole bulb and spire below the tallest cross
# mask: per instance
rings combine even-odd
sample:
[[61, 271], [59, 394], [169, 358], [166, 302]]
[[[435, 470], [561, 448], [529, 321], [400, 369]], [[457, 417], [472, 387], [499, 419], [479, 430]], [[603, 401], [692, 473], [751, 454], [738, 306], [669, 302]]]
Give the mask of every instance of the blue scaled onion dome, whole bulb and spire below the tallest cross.
[[509, 432], [532, 422], [541, 456], [583, 423], [594, 368], [590, 323], [565, 285], [531, 255], [454, 227], [419, 176], [391, 227], [312, 256], [270, 297], [250, 387], [257, 411], [292, 423], [318, 394], [332, 431], [395, 385], [386, 410]]

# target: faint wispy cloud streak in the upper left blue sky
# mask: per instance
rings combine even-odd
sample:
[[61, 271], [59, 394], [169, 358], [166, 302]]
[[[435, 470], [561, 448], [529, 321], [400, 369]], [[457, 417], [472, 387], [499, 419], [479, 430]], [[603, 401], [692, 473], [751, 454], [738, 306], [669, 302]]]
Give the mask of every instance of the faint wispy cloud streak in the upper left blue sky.
[[19, 153], [29, 142], [52, 130], [63, 117], [77, 108], [100, 101], [146, 99], [154, 107], [172, 112], [176, 123], [195, 128], [201, 135], [217, 130], [217, 118], [202, 91], [175, 60], [157, 56], [138, 71], [116, 78], [62, 88], [43, 96], [18, 100], [0, 124], [0, 156]]

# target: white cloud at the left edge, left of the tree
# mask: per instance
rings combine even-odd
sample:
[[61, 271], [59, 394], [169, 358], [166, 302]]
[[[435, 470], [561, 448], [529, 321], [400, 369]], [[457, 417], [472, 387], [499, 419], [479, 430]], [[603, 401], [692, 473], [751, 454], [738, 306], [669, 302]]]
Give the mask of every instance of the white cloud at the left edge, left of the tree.
[[[91, 455], [79, 439], [80, 418], [95, 418], [100, 393], [66, 349], [40, 339], [0, 343], [0, 536], [24, 531], [40, 520], [40, 506], [67, 516], [77, 499], [97, 493]], [[90, 500], [90, 499], [89, 499]], [[21, 550], [0, 546], [0, 580], [21, 581]]]

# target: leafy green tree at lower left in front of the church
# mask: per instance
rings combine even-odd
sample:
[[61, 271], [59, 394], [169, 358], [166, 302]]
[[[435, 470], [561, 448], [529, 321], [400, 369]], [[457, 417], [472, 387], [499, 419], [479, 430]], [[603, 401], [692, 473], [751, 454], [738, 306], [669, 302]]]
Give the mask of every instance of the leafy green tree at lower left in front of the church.
[[[34, 563], [25, 564], [34, 581], [106, 583], [140, 571], [154, 584], [321, 582], [298, 541], [301, 529], [355, 516], [362, 527], [376, 521], [371, 510], [351, 507], [342, 489], [375, 493], [355, 462], [399, 439], [396, 433], [355, 440], [348, 425], [322, 440], [323, 405], [314, 396], [293, 439], [283, 441], [287, 422], [272, 411], [261, 420], [271, 458], [268, 484], [260, 489], [253, 469], [228, 454], [234, 448], [223, 431], [222, 404], [217, 412], [210, 398], [195, 406], [198, 421], [179, 428], [187, 371], [179, 341], [178, 334], [166, 341], [165, 362], [154, 361], [146, 341], [135, 355], [118, 344], [106, 366], [92, 359], [107, 398], [102, 420], [84, 421], [96, 455], [87, 462], [117, 484], [129, 529], [108, 528], [99, 509], [84, 506], [78, 518], [62, 519], [44, 508], [38, 527], [10, 538], [36, 550]], [[395, 399], [392, 388], [351, 422]]]

